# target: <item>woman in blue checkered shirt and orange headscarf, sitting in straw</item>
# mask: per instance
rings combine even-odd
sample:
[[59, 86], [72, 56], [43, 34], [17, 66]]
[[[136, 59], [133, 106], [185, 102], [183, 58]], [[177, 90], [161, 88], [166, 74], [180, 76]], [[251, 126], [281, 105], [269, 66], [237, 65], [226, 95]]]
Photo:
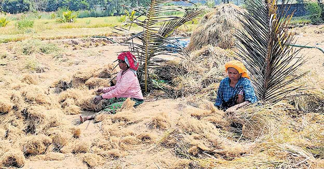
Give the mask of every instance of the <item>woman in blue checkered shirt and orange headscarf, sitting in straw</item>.
[[249, 103], [257, 102], [254, 88], [246, 67], [233, 60], [225, 64], [228, 77], [219, 84], [215, 106], [226, 112], [233, 112]]

